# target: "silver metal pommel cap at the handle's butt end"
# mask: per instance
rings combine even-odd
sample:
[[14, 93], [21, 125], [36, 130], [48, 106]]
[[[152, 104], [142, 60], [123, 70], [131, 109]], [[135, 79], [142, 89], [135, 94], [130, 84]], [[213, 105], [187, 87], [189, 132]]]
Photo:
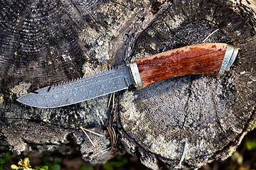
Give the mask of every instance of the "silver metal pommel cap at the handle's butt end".
[[220, 70], [218, 72], [218, 76], [222, 75], [225, 71], [229, 71], [233, 62], [235, 62], [235, 58], [238, 55], [238, 47], [234, 47], [233, 45], [227, 45], [227, 50], [225, 52], [225, 56], [223, 59], [223, 63], [221, 64]]

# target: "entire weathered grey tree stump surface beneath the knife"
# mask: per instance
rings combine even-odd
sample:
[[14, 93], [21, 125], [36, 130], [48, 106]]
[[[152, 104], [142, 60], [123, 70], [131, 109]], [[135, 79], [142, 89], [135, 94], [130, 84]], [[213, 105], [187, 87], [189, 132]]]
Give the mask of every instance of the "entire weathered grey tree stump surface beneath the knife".
[[[119, 152], [114, 147], [124, 146], [151, 169], [161, 162], [198, 168], [229, 157], [255, 127], [253, 1], [34, 0], [0, 6], [0, 144], [14, 152], [65, 153], [80, 146], [83, 159], [104, 162]], [[222, 77], [176, 77], [140, 91], [130, 86], [115, 94], [110, 107], [110, 95], [49, 109], [16, 101], [44, 86], [203, 42], [240, 47]], [[102, 136], [87, 132], [91, 143], [80, 127]]]

